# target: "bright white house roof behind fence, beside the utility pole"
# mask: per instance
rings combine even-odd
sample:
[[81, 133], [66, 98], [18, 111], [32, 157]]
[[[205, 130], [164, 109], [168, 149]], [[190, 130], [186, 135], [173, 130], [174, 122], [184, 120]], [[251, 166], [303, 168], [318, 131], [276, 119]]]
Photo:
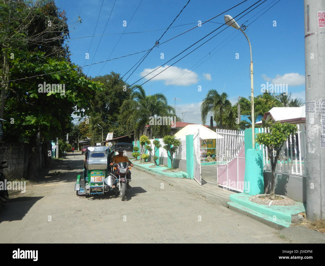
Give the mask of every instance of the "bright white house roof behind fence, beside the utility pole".
[[[301, 107], [273, 107], [271, 110], [264, 113], [263, 119], [266, 121], [272, 119], [283, 123], [305, 123], [305, 108], [305, 105]], [[255, 124], [262, 124], [262, 121]]]

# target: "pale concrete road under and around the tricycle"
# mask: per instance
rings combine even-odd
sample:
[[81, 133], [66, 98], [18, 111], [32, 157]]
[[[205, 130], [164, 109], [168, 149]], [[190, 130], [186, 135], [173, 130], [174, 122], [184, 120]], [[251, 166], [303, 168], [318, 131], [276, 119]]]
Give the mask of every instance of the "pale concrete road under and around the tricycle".
[[[24, 194], [11, 191], [10, 201], [0, 209], [1, 243], [292, 242], [265, 224], [208, 201], [202, 195], [207, 186], [194, 180], [152, 176], [133, 168], [133, 188], [126, 201], [113, 193], [76, 196], [74, 184], [83, 158], [80, 152], [70, 153], [55, 168], [62, 175], [46, 175], [28, 185]], [[233, 192], [222, 193], [227, 200]]]

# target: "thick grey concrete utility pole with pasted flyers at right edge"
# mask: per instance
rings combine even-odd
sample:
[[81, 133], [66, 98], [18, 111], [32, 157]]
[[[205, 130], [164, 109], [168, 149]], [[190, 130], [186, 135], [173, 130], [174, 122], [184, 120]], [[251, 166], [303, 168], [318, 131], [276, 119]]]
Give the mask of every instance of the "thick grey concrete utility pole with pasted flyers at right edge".
[[325, 219], [325, 0], [304, 0], [307, 219]]

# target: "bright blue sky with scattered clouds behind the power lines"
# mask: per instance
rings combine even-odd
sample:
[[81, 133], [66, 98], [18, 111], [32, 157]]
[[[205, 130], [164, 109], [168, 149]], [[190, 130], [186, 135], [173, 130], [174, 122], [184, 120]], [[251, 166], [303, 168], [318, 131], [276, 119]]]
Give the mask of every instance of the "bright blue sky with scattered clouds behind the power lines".
[[[156, 40], [165, 31], [160, 29], [166, 29], [188, 2], [188, 0], [142, 0], [142, 2], [141, 0], [116, 0], [113, 7], [114, 1], [55, 1], [60, 11], [66, 11], [69, 25], [72, 25], [78, 19], [78, 16], [82, 19], [81, 24], [74, 23], [70, 28], [71, 39], [68, 45], [73, 54], [71, 56], [73, 63], [83, 66], [91, 62], [96, 63], [152, 48]], [[192, 24], [168, 29], [160, 43], [195, 27], [198, 25], [199, 20], [204, 22], [211, 19], [232, 6], [239, 4], [241, 1], [191, 0], [171, 27], [188, 23]], [[127, 82], [132, 84], [161, 65], [164, 68], [165, 65], [170, 66], [217, 32], [225, 29], [226, 26], [222, 26], [219, 30], [210, 34], [171, 62], [165, 63], [188, 46], [220, 27], [224, 23], [224, 15], [236, 17], [257, 1], [248, 0], [240, 6], [221, 14], [211, 20], [211, 22], [206, 22], [201, 27], [197, 27], [161, 44], [159, 47], [154, 47], [141, 65], [128, 78]], [[258, 4], [263, 1], [260, 1]], [[239, 19], [247, 11], [235, 19], [239, 25], [244, 24], [247, 26], [276, 2], [278, 0], [266, 0], [266, 2], [243, 18]], [[101, 5], [102, 9], [98, 18]], [[97, 19], [98, 23], [95, 31]], [[123, 27], [124, 20], [127, 25], [126, 29]], [[104, 31], [106, 24], [107, 27]], [[101, 36], [86, 37], [101, 35], [103, 32], [106, 35], [102, 36], [101, 41]], [[123, 32], [123, 35], [118, 34]], [[249, 25], [245, 32], [252, 44], [254, 95], [261, 94], [261, 85], [266, 84], [266, 82], [285, 83], [288, 84], [288, 92], [292, 93], [293, 98], [296, 97], [305, 102], [303, 1], [280, 0], [275, 6]], [[95, 54], [97, 47], [98, 51]], [[113, 50], [114, 47], [115, 49]], [[89, 59], [85, 59], [85, 53], [89, 53]], [[161, 59], [161, 53], [163, 53], [163, 59]], [[239, 54], [239, 59], [236, 59], [236, 53]], [[124, 75], [144, 54], [141, 53], [108, 61], [105, 65], [100, 63], [91, 67], [85, 67], [84, 72], [92, 77], [109, 74], [110, 71]], [[204, 61], [205, 59], [207, 60]], [[236, 103], [238, 96], [248, 97], [250, 95], [249, 65], [249, 45], [245, 36], [239, 30], [228, 27], [194, 52], [175, 63], [172, 67], [159, 74], [156, 78], [145, 83], [143, 87], [147, 94], [150, 93], [150, 95], [164, 93], [168, 103], [172, 106], [174, 106], [174, 97], [177, 98], [177, 116], [182, 117], [181, 112], [187, 111], [184, 116], [184, 122], [201, 123], [201, 102], [210, 89], [216, 89], [219, 93], [226, 92], [232, 103]], [[123, 80], [133, 70], [134, 68]], [[136, 84], [142, 84], [146, 81], [147, 79], [143, 78], [136, 82]], [[201, 91], [198, 91], [198, 86], [201, 86]]]

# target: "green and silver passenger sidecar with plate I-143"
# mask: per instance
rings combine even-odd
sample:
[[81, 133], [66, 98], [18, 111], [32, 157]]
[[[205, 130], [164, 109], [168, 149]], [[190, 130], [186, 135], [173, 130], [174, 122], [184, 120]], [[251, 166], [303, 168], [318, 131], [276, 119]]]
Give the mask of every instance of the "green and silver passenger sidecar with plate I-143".
[[[107, 146], [87, 147], [83, 176], [77, 176], [74, 186], [77, 196], [104, 195], [110, 191], [110, 156]], [[113, 153], [113, 151], [111, 151]]]

